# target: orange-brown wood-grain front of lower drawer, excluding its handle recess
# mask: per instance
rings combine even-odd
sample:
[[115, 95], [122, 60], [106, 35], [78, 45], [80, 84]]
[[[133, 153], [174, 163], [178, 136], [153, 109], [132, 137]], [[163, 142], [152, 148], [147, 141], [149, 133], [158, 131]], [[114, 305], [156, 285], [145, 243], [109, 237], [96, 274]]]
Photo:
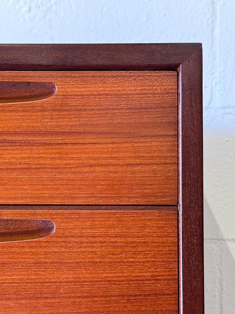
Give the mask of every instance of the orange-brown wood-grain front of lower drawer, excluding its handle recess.
[[1, 210], [50, 219], [45, 238], [0, 243], [1, 314], [178, 313], [177, 211]]

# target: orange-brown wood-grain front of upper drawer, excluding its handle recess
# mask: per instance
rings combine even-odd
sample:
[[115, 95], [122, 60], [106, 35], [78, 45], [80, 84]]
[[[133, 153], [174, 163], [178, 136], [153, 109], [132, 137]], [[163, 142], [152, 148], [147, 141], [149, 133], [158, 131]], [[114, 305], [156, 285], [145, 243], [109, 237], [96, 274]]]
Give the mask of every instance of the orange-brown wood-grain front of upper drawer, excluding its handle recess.
[[0, 104], [0, 203], [177, 203], [176, 72], [2, 71], [0, 80], [57, 87]]

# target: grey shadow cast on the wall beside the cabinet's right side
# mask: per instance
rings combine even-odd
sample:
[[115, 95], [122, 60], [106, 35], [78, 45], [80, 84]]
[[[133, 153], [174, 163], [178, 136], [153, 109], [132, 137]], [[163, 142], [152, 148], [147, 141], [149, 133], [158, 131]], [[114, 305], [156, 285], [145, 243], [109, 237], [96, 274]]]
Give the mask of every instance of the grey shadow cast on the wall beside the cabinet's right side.
[[204, 198], [205, 314], [235, 313], [235, 241], [226, 240]]

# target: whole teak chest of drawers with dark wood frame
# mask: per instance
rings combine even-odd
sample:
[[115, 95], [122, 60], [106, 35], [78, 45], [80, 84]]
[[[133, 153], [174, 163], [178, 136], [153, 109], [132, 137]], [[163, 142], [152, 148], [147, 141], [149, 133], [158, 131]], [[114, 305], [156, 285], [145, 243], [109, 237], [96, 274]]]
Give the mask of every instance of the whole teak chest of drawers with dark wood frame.
[[201, 44], [4, 44], [0, 70], [0, 313], [204, 313]]

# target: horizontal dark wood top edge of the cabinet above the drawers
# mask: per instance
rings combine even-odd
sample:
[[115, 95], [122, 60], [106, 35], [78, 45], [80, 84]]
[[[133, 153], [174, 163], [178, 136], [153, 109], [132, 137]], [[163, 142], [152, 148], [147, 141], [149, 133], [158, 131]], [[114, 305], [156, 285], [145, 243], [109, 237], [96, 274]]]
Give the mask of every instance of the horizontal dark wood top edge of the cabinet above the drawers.
[[200, 44], [1, 44], [0, 70], [178, 70]]

